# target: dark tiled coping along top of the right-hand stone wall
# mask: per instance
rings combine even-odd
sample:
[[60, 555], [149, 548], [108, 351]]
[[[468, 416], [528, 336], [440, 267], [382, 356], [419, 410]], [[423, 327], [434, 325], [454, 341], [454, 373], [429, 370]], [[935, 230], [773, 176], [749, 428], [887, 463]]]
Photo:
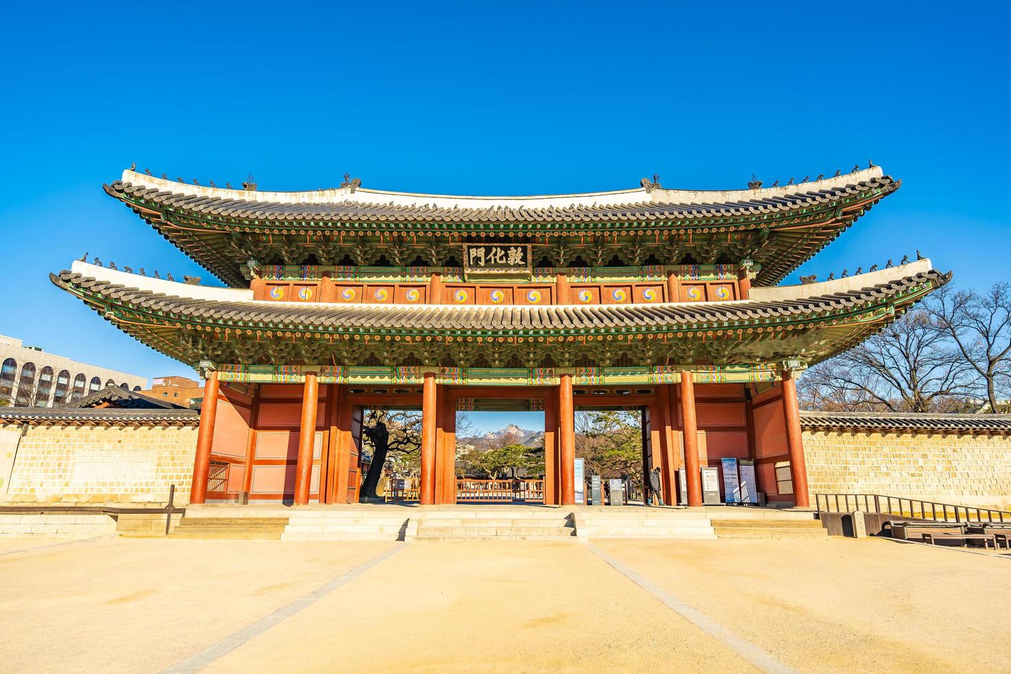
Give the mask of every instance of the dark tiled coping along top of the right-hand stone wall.
[[1011, 432], [1011, 414], [801, 411], [801, 425], [819, 429]]

